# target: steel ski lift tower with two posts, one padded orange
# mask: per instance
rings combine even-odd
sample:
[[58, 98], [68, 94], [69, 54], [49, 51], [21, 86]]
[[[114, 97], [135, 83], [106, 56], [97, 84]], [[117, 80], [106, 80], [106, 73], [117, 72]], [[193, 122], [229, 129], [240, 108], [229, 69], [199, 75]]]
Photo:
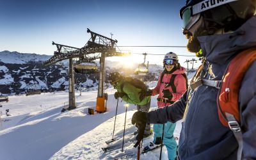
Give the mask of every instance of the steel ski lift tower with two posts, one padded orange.
[[[91, 34], [90, 40], [82, 47], [81, 49], [77, 47], [70, 47], [68, 45], [55, 44], [52, 42], [52, 45], [56, 45], [57, 51], [54, 52], [49, 60], [44, 61], [45, 66], [53, 65], [58, 61], [69, 60], [69, 106], [68, 109], [76, 108], [75, 97], [74, 97], [74, 66], [73, 58], [79, 58], [83, 61], [92, 61], [90, 55], [94, 54], [93, 59], [100, 58], [100, 79], [99, 79], [99, 88], [97, 96], [96, 111], [103, 113], [106, 111], [106, 100], [107, 95], [104, 94], [103, 83], [105, 79], [104, 70], [105, 70], [105, 58], [110, 56], [126, 56], [127, 53], [116, 52], [115, 44], [117, 40], [108, 38], [106, 36], [99, 35], [87, 29], [87, 33]], [[100, 56], [95, 56], [95, 53], [100, 53]]]

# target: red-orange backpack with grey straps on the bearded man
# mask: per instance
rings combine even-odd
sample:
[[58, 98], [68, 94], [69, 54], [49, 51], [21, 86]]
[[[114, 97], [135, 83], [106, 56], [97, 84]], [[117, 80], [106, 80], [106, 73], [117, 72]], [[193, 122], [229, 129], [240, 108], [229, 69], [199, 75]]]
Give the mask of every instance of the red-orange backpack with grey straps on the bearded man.
[[234, 57], [223, 76], [220, 91], [218, 93], [218, 114], [221, 124], [228, 127], [226, 113], [234, 115], [240, 122], [238, 96], [244, 74], [256, 60], [256, 50], [248, 49]]

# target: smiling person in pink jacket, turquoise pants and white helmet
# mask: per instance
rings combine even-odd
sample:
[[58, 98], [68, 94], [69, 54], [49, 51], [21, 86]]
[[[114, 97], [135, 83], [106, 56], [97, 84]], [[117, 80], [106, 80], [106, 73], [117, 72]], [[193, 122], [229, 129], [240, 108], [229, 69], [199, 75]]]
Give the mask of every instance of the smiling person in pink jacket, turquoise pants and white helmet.
[[[164, 71], [161, 72], [157, 86], [148, 90], [147, 95], [158, 95], [157, 106], [163, 108], [170, 106], [176, 100], [179, 100], [187, 90], [187, 77], [185, 68], [180, 67], [177, 54], [168, 52], [163, 60]], [[176, 124], [167, 122], [164, 124], [163, 143], [168, 150], [168, 159], [175, 159], [177, 156], [177, 143], [173, 137]], [[150, 150], [161, 145], [163, 124], [154, 124], [154, 141], [150, 142], [144, 150]]]

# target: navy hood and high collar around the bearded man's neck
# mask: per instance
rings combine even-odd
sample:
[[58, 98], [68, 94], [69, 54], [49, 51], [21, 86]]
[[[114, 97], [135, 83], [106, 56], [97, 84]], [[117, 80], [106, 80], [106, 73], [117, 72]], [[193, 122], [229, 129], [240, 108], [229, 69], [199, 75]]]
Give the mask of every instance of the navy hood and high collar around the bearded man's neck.
[[237, 52], [256, 46], [256, 15], [232, 33], [199, 36], [198, 40], [207, 61], [227, 63]]

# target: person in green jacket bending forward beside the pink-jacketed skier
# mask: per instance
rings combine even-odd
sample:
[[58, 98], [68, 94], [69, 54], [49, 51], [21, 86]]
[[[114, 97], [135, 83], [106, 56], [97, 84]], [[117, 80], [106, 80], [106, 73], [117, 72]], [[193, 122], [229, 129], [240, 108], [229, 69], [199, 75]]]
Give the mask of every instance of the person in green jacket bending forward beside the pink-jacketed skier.
[[[112, 72], [109, 74], [109, 83], [117, 90], [114, 96], [115, 99], [119, 97], [129, 104], [136, 104], [138, 111], [148, 112], [150, 109], [150, 96], [146, 97], [145, 92], [132, 84], [128, 79], [131, 77], [124, 77], [119, 72]], [[139, 80], [136, 79], [138, 82]], [[142, 85], [143, 82], [138, 82]], [[137, 84], [138, 85], [138, 84]], [[144, 137], [150, 135], [150, 124], [146, 124]]]

